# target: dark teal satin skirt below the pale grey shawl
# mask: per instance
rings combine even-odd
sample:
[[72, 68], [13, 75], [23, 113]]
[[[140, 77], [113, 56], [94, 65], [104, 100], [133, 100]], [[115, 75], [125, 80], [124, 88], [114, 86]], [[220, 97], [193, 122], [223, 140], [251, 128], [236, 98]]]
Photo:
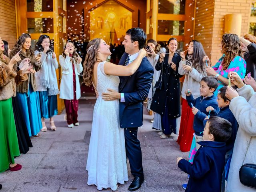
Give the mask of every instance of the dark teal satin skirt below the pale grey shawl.
[[41, 117], [46, 119], [58, 114], [57, 96], [48, 95], [47, 91], [38, 91], [40, 100]]

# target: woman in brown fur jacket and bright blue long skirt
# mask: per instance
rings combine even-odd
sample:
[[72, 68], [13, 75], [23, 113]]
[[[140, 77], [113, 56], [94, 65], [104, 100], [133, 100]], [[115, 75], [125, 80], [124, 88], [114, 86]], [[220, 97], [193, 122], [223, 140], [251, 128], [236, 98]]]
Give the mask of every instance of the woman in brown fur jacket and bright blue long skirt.
[[[23, 33], [17, 40], [14, 48], [11, 50], [9, 57], [12, 58], [19, 53], [23, 60], [28, 58], [30, 65], [38, 71], [40, 69], [41, 60], [36, 57], [31, 49], [31, 37], [27, 33]], [[20, 62], [14, 65], [14, 70], [18, 72], [22, 65]], [[17, 86], [17, 96], [14, 98], [17, 115], [26, 123], [29, 136], [40, 136], [38, 133], [42, 128], [39, 97], [36, 92], [36, 76], [34, 73], [28, 74], [28, 80]], [[18, 125], [19, 126], [19, 125]]]

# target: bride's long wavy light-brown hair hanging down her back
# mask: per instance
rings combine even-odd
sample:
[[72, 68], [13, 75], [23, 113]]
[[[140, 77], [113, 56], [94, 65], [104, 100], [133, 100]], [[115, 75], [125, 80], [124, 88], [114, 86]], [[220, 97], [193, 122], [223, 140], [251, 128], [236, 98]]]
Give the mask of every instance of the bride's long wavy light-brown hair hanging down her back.
[[84, 83], [86, 86], [91, 86], [92, 85], [92, 73], [93, 73], [93, 68], [94, 64], [98, 61], [97, 56], [98, 56], [98, 49], [100, 47], [100, 38], [95, 38], [91, 40], [87, 47], [86, 47], [86, 56], [84, 60]]

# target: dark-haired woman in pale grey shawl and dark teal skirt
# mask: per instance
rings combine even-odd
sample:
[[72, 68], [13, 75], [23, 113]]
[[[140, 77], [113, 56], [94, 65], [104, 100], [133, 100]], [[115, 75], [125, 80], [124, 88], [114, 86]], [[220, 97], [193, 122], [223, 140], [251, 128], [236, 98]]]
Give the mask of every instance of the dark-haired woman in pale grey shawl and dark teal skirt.
[[58, 61], [53, 47], [50, 44], [48, 35], [41, 35], [36, 43], [35, 54], [40, 54], [42, 65], [36, 72], [37, 91], [40, 100], [41, 121], [43, 128], [41, 131], [47, 131], [44, 119], [50, 118], [50, 128], [56, 131], [53, 116], [58, 114], [57, 95], [59, 94], [56, 70]]

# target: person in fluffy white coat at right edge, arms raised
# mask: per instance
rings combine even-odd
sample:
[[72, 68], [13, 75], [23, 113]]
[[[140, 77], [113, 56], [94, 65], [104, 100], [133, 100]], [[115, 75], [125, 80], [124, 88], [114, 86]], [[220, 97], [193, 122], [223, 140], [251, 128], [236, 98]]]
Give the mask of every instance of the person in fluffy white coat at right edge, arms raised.
[[234, 114], [239, 128], [230, 163], [226, 191], [255, 192], [254, 188], [241, 184], [239, 169], [242, 164], [256, 164], [256, 92], [250, 85], [245, 85], [236, 72], [230, 72], [230, 75], [231, 82], [238, 86], [238, 89], [236, 92], [227, 87], [226, 97], [231, 100], [229, 108]]

